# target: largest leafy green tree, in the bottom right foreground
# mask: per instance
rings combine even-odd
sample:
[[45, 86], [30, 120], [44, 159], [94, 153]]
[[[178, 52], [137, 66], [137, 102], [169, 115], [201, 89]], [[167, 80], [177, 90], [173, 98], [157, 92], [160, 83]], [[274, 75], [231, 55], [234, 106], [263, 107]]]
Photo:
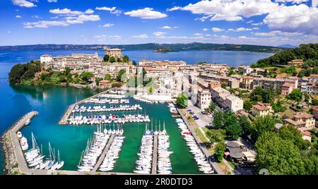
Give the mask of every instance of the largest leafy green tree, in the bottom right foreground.
[[266, 132], [255, 144], [257, 169], [267, 169], [272, 175], [305, 173], [300, 150], [292, 141], [283, 140], [276, 133]]

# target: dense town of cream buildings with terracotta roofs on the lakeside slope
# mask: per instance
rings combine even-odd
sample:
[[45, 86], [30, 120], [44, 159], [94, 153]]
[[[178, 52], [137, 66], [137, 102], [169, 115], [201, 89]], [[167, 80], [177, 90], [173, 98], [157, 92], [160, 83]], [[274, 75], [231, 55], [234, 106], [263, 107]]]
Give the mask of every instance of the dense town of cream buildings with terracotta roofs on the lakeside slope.
[[[216, 114], [219, 111], [229, 111], [239, 119], [244, 116], [249, 124], [257, 118], [272, 118], [276, 120], [276, 132], [283, 126], [293, 126], [304, 141], [311, 141], [310, 131], [317, 129], [318, 75], [314, 73], [298, 77], [276, 72], [278, 74], [273, 77], [266, 68], [243, 65], [233, 68], [224, 63], [187, 64], [146, 59], [136, 63], [124, 57], [122, 49], [108, 48], [105, 48], [104, 57], [98, 53], [45, 54], [40, 57], [40, 63], [45, 70], [68, 70], [77, 75], [92, 73], [88, 78], [89, 87], [122, 87], [127, 92], [132, 90], [133, 97], [144, 102], [175, 102], [186, 108], [182, 114], [197, 125], [196, 133], [202, 142], [211, 142], [211, 131], [206, 128], [218, 128]], [[288, 61], [284, 68], [301, 68], [303, 64], [302, 59], [295, 59]], [[296, 93], [300, 94], [298, 99]], [[269, 99], [264, 95], [269, 95]], [[179, 103], [181, 97], [185, 97], [185, 106]], [[170, 112], [175, 110], [170, 109]], [[247, 140], [238, 136], [225, 140], [222, 156], [236, 168], [237, 165], [253, 167], [257, 156], [252, 145], [253, 134], [246, 134]], [[228, 163], [226, 166], [225, 170], [234, 173]]]

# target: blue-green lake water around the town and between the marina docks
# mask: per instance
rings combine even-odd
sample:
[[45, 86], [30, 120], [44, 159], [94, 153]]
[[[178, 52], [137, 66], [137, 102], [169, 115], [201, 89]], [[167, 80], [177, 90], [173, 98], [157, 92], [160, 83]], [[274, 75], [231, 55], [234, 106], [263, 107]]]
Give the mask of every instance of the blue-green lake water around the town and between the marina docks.
[[[59, 126], [57, 122], [69, 104], [77, 99], [90, 97], [94, 92], [90, 90], [78, 90], [73, 87], [33, 87], [33, 86], [11, 86], [8, 84], [8, 72], [16, 63], [25, 63], [31, 59], [40, 59], [41, 54], [69, 55], [71, 53], [94, 53], [93, 50], [52, 50], [52, 51], [0, 51], [0, 133], [3, 133], [18, 118], [29, 111], [39, 111], [39, 116], [33, 118], [30, 126], [23, 128], [30, 140], [33, 132], [43, 151], [47, 154], [47, 144], [51, 142], [52, 147], [59, 149], [61, 159], [64, 159], [64, 169], [75, 170], [81, 156], [81, 151], [86, 146], [88, 138], [92, 137], [95, 127], [91, 126]], [[102, 56], [103, 51], [98, 51]], [[249, 65], [258, 59], [263, 59], [271, 54], [246, 52], [246, 51], [179, 51], [168, 53], [154, 53], [153, 51], [124, 51], [131, 60], [182, 60], [187, 63], [206, 61], [209, 63], [228, 63], [230, 66], [240, 64]], [[131, 99], [134, 103], [134, 100]], [[170, 146], [174, 152], [171, 156], [173, 173], [199, 173], [192, 154], [189, 153], [184, 140], [181, 138], [179, 129], [171, 118], [165, 104], [153, 105], [141, 104], [153, 120], [165, 120], [167, 132], [170, 135]], [[126, 139], [122, 152], [117, 159], [114, 171], [131, 172], [134, 169], [141, 135], [145, 125], [125, 124], [124, 135]], [[30, 142], [30, 141], [29, 141]], [[2, 150], [2, 148], [1, 148]], [[0, 150], [0, 174], [3, 172], [4, 159]]]

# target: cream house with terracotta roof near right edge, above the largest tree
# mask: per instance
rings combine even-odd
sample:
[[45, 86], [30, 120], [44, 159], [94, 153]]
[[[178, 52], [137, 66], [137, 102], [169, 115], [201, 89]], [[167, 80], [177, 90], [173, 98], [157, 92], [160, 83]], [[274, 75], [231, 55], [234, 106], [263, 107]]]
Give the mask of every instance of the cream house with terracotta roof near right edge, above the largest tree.
[[286, 118], [284, 121], [300, 130], [311, 130], [314, 128], [315, 123], [314, 116], [304, 112], [297, 112], [294, 114], [293, 118]]

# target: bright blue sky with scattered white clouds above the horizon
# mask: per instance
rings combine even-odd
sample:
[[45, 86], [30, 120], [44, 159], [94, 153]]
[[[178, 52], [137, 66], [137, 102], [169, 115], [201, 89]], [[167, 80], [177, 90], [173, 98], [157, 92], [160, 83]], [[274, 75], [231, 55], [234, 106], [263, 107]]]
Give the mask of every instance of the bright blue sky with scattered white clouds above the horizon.
[[1, 0], [0, 45], [318, 42], [315, 0]]

